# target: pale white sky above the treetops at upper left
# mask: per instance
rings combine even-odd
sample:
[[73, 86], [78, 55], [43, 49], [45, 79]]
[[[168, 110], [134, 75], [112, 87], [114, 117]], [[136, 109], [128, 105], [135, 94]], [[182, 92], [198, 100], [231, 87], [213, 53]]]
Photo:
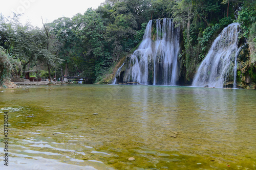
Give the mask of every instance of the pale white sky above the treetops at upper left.
[[59, 17], [73, 17], [77, 13], [83, 14], [88, 8], [97, 9], [105, 0], [1, 0], [0, 13], [5, 17], [12, 16], [12, 12], [24, 13], [20, 18], [22, 23], [30, 20], [33, 26], [42, 27], [44, 23], [52, 22]]

